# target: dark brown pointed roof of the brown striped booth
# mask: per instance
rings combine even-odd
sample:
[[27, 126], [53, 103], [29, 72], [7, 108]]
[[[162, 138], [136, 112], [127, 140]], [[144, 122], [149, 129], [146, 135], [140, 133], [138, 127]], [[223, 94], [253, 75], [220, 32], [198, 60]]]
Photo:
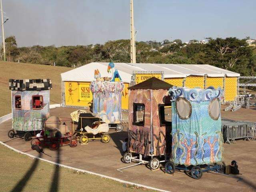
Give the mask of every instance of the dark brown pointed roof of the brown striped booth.
[[152, 77], [144, 82], [141, 82], [139, 84], [136, 84], [134, 86], [128, 87], [130, 90], [135, 90], [135, 89], [152, 89], [152, 90], [157, 90], [157, 89], [165, 89], [169, 90], [172, 88], [171, 84], [168, 84], [158, 78]]

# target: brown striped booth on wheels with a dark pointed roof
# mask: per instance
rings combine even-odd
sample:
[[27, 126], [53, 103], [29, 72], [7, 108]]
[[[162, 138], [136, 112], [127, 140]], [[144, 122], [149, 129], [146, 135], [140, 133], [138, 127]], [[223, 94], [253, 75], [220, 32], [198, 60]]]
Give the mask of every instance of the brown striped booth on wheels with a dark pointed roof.
[[155, 170], [170, 157], [171, 87], [152, 77], [129, 88], [128, 152], [123, 155], [123, 162], [149, 164]]

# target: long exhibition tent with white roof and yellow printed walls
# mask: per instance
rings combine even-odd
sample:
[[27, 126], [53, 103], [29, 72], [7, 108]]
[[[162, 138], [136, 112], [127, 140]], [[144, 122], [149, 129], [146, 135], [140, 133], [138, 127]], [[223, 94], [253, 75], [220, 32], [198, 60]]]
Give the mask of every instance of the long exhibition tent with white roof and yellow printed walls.
[[[62, 106], [89, 108], [92, 106], [90, 83], [94, 81], [94, 70], [99, 69], [101, 76], [109, 76], [106, 68], [109, 63], [93, 62], [61, 74]], [[122, 81], [122, 110], [128, 110], [128, 87], [134, 71], [163, 71], [164, 81], [179, 87], [224, 88], [224, 101], [232, 102], [237, 95], [237, 77], [240, 74], [210, 65], [194, 64], [150, 64], [150, 63], [115, 63]], [[140, 75], [140, 82], [147, 77]]]

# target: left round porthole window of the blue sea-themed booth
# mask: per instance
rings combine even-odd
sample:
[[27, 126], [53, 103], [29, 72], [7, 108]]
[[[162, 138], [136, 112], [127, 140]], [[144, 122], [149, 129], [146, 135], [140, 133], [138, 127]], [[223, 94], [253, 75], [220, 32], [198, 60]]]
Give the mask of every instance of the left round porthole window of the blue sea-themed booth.
[[180, 119], [188, 119], [191, 116], [192, 106], [188, 100], [179, 97], [176, 100], [176, 110]]

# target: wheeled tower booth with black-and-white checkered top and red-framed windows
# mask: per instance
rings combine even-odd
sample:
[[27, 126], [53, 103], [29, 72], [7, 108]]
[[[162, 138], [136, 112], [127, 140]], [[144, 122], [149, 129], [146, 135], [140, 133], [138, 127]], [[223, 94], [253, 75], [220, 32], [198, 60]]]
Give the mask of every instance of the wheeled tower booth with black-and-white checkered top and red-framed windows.
[[41, 122], [34, 125], [34, 119], [50, 116], [50, 79], [9, 80], [12, 96], [12, 130], [9, 138], [24, 136], [31, 140], [31, 136], [38, 133]]

